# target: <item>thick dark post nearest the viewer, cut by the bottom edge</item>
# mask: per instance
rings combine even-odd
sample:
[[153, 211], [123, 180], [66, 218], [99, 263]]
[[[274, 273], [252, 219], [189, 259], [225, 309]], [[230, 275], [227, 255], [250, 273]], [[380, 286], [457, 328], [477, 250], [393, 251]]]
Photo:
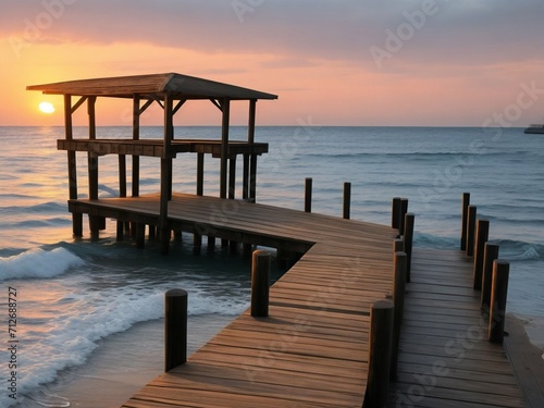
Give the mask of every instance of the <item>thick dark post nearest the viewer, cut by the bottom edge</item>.
[[364, 408], [383, 408], [390, 390], [394, 306], [378, 300], [370, 309], [370, 349]]

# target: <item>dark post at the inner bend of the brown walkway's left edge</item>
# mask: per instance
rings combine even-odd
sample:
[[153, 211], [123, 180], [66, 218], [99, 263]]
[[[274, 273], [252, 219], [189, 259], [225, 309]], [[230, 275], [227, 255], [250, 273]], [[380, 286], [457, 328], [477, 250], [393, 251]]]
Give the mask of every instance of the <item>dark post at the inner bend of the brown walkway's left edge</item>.
[[270, 252], [254, 251], [251, 263], [251, 316], [269, 316]]

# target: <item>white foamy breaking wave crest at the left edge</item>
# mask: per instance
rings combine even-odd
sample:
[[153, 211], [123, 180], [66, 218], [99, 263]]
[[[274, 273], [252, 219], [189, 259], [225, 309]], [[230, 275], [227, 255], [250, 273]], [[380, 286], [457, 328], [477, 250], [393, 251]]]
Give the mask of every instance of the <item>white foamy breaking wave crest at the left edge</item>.
[[34, 248], [20, 255], [0, 258], [0, 281], [53, 277], [83, 263], [83, 259], [64, 248], [49, 251]]

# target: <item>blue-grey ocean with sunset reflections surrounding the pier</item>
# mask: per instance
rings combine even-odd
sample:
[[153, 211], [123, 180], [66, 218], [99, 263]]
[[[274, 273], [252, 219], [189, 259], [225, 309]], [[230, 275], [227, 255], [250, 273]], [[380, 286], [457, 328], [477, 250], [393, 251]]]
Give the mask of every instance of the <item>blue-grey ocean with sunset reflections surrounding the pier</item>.
[[[479, 217], [491, 221], [490, 238], [500, 245], [500, 258], [510, 261], [507, 311], [544, 318], [544, 135], [306, 122], [257, 128], [256, 140], [270, 144], [259, 158], [258, 202], [304, 209], [305, 177], [312, 177], [312, 211], [341, 217], [343, 183], [350, 182], [353, 219], [390, 224], [392, 198], [406, 197], [416, 214], [415, 245], [455, 249], [461, 195], [471, 193]], [[234, 126], [231, 138], [244, 139], [246, 132]], [[75, 134], [84, 137], [86, 128]], [[126, 127], [98, 128], [98, 137], [129, 135]], [[52, 384], [88, 363], [109, 338], [162, 319], [170, 288], [189, 293], [193, 349], [249, 304], [249, 261], [219, 246], [195, 256], [189, 235], [173, 242], [168, 257], [156, 245], [116, 243], [114, 222], [98, 242], [89, 239], [86, 224], [85, 236], [74, 239], [66, 153], [55, 148], [63, 136], [62, 127], [0, 127], [2, 407], [67, 406], [62, 395], [51, 396]], [[160, 138], [162, 131], [145, 127], [143, 137]], [[176, 137], [219, 138], [220, 128], [176, 127]], [[174, 161], [175, 191], [195, 191], [194, 156]], [[79, 193], [87, 191], [86, 162], [78, 153]], [[141, 194], [158, 190], [159, 170], [157, 159], [141, 159]], [[100, 159], [100, 197], [119, 194], [116, 172], [116, 157]], [[205, 194], [219, 195], [218, 172], [219, 161], [208, 159]], [[274, 279], [281, 273], [275, 265]], [[112, 364], [123, 362], [129, 363]]]

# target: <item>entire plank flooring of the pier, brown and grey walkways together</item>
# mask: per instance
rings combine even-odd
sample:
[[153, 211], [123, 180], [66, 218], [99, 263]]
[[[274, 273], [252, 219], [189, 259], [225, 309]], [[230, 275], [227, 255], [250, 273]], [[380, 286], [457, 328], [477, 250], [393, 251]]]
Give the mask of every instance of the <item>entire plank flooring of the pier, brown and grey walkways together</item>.
[[[70, 208], [156, 224], [159, 196], [71, 200]], [[269, 318], [246, 311], [123, 408], [361, 407], [370, 305], [392, 292], [393, 230], [190, 195], [174, 195], [169, 221], [306, 254], [272, 286]], [[504, 347], [486, 341], [471, 259], [416, 249], [407, 290], [388, 407], [526, 407]]]

